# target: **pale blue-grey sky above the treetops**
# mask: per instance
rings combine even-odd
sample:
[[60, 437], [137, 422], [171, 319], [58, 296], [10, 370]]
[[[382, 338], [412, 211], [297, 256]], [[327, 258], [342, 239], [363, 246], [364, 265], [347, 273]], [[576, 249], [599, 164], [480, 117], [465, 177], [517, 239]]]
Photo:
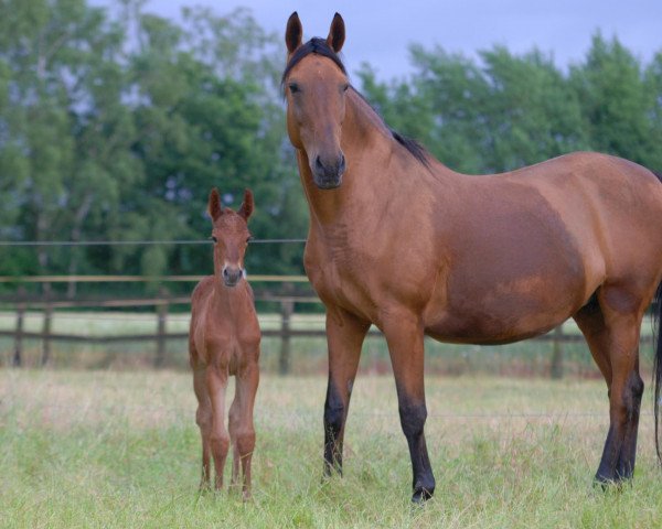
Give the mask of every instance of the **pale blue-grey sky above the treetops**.
[[290, 13], [298, 11], [306, 40], [327, 36], [338, 11], [346, 25], [343, 58], [350, 73], [367, 62], [382, 78], [409, 73], [410, 43], [439, 44], [468, 56], [494, 44], [514, 53], [537, 46], [565, 67], [584, 58], [599, 29], [607, 37], [617, 35], [642, 61], [662, 52], [662, 0], [149, 0], [146, 10], [177, 19], [182, 6], [192, 4], [218, 14], [247, 7], [264, 29], [279, 36]]

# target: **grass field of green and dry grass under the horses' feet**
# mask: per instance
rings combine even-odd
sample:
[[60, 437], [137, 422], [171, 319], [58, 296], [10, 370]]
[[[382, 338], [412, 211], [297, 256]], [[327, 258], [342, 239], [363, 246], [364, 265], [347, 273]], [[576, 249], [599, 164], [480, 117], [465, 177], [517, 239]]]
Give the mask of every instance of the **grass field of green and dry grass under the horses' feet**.
[[437, 493], [409, 505], [394, 382], [362, 376], [345, 476], [321, 483], [324, 377], [263, 377], [254, 500], [199, 495], [190, 376], [0, 370], [0, 527], [662, 527], [662, 474], [644, 393], [632, 485], [591, 486], [604, 382], [428, 377]]

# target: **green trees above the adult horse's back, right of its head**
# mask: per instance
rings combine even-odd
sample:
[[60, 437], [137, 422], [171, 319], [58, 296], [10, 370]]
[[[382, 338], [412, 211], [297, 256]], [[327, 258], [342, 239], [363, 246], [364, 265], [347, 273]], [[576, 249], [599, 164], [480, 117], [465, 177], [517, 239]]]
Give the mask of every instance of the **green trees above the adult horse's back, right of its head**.
[[378, 83], [365, 65], [365, 95], [458, 171], [510, 171], [576, 150], [662, 169], [660, 54], [644, 67], [600, 34], [569, 72], [537, 50], [516, 56], [494, 46], [480, 61], [440, 47], [410, 52], [410, 79]]

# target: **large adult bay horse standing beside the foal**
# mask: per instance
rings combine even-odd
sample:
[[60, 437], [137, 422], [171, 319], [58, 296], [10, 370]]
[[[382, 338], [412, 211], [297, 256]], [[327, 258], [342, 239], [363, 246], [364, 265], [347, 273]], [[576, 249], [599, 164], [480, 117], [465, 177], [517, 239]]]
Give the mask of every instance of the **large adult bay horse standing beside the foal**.
[[[504, 344], [576, 322], [605, 376], [610, 425], [596, 479], [632, 476], [643, 381], [639, 332], [662, 280], [662, 184], [589, 152], [469, 176], [393, 132], [352, 88], [327, 39], [288, 23], [287, 130], [310, 208], [306, 271], [327, 306], [325, 472], [342, 442], [365, 334], [385, 335], [409, 445], [414, 501], [435, 478], [424, 436], [424, 335]], [[659, 295], [662, 290], [659, 290]], [[658, 305], [656, 317], [662, 307]], [[655, 396], [662, 377], [658, 339]], [[655, 399], [655, 440], [658, 398]]]

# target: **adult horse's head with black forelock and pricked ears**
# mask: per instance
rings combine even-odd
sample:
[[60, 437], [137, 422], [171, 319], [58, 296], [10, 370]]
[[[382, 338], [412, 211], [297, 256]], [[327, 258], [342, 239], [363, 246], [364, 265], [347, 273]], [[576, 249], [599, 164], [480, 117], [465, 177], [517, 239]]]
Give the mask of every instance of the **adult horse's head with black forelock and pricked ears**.
[[302, 44], [302, 34], [295, 12], [285, 33], [287, 131], [292, 145], [306, 152], [316, 185], [331, 190], [341, 184], [345, 171], [340, 138], [350, 84], [338, 57], [344, 43], [344, 22], [335, 13], [325, 40], [316, 37]]

